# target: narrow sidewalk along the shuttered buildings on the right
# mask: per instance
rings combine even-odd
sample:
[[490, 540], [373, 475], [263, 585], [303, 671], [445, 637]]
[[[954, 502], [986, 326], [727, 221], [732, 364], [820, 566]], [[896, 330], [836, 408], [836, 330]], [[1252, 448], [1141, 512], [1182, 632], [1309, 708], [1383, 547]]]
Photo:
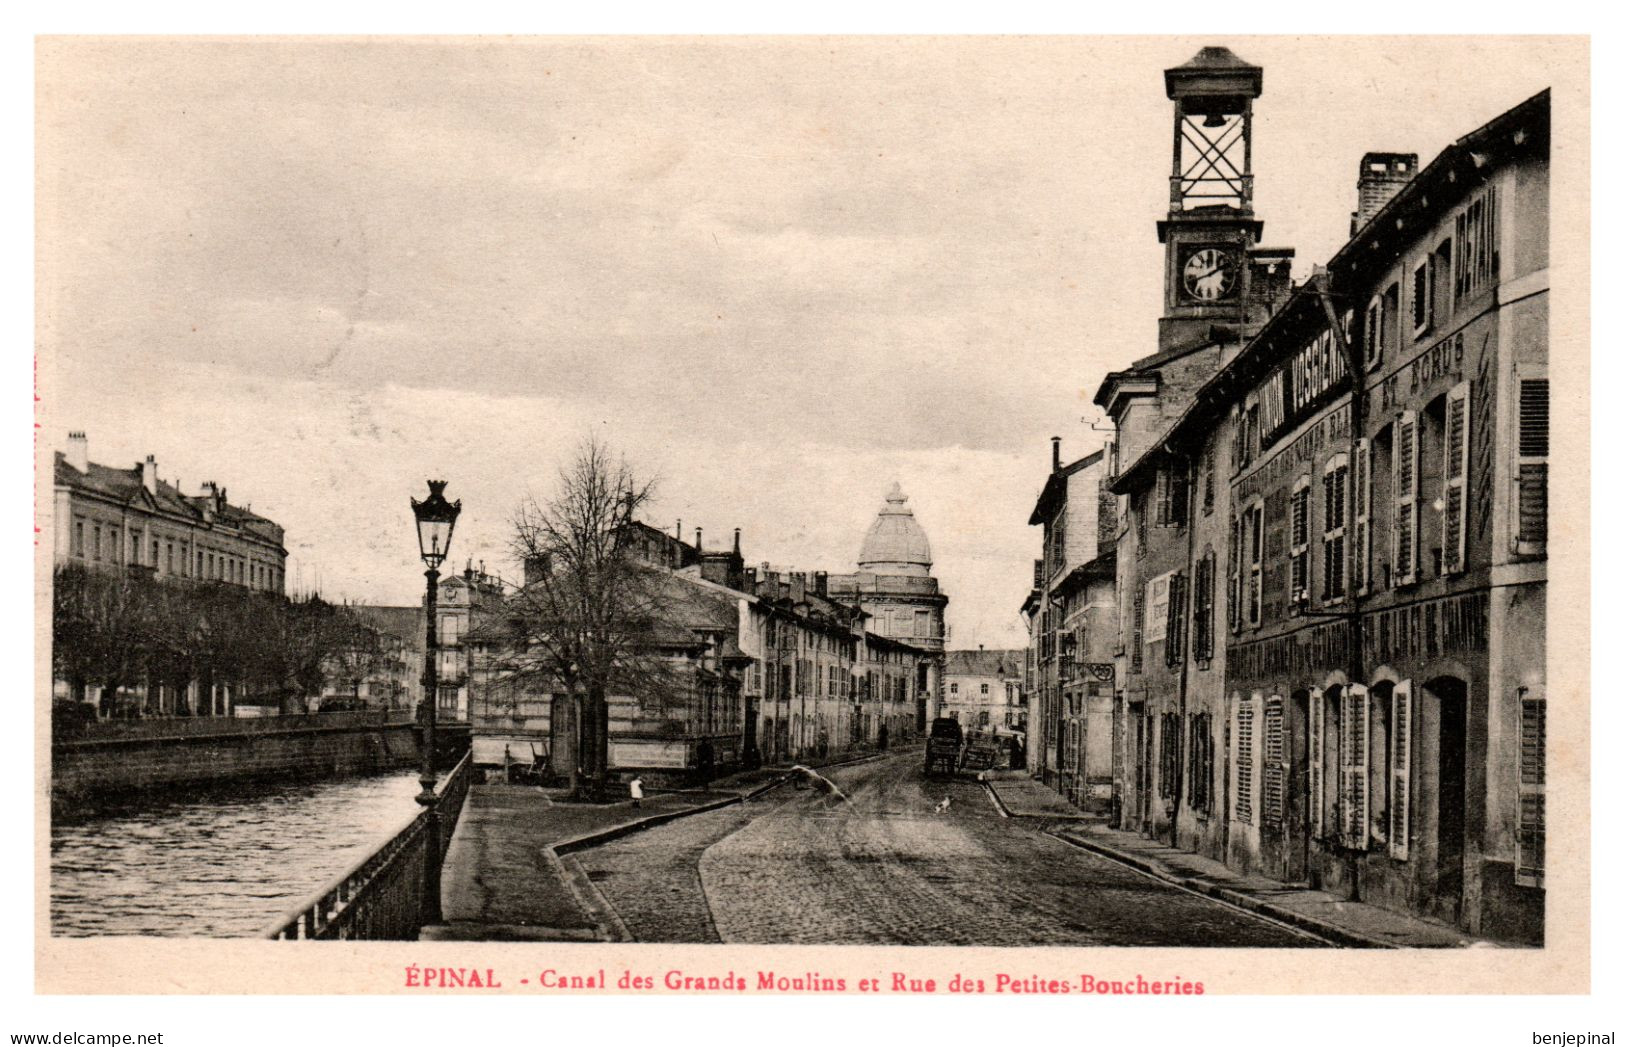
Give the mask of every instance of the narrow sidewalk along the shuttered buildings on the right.
[[[1032, 779], [985, 784], [1012, 816], [1055, 818], [1035, 795], [1050, 790]], [[1053, 792], [1050, 795], [1060, 800]], [[1157, 880], [1280, 920], [1337, 945], [1430, 949], [1480, 945], [1480, 940], [1448, 923], [1350, 902], [1326, 891], [1295, 888], [1266, 876], [1246, 876], [1214, 858], [1110, 829], [1100, 821], [1077, 819], [1076, 815], [1072, 810], [1072, 824], [1051, 829], [1053, 836]]]

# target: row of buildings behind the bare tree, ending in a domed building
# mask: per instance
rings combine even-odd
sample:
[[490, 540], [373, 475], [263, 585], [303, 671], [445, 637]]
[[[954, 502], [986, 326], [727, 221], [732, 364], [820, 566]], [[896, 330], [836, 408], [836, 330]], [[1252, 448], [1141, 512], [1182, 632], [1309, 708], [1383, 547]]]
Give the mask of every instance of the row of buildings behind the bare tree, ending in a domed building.
[[[704, 782], [741, 767], [884, 749], [918, 736], [934, 714], [947, 597], [899, 486], [855, 574], [748, 567], [738, 530], [731, 548], [707, 548], [700, 528], [684, 540], [681, 522], [666, 533], [632, 520], [619, 540], [645, 576], [653, 618], [639, 658], [660, 670], [606, 696], [616, 777]], [[468, 610], [450, 626], [458, 642], [442, 652], [463, 652], [450, 667], [463, 675], [445, 680], [471, 710], [474, 762], [569, 777], [583, 745], [580, 696], [557, 673], [514, 670], [523, 658], [505, 631], [507, 608], [523, 587], [507, 593], [478, 576], [465, 582]]]

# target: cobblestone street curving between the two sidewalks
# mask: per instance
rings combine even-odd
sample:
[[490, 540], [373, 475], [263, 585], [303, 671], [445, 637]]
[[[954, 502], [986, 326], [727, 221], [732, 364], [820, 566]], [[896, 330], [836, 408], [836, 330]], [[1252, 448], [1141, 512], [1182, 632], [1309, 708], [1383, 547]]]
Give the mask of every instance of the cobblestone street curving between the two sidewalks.
[[[1320, 946], [1008, 819], [913, 754], [570, 858], [640, 941]], [[942, 800], [946, 811], [938, 811]]]

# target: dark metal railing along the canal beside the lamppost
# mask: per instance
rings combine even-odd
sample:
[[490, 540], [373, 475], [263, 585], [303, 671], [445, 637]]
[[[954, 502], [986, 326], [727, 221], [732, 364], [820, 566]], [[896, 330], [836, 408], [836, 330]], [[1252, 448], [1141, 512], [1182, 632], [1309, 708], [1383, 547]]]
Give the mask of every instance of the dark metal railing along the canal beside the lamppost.
[[463, 811], [473, 751], [463, 754], [436, 792], [437, 802], [424, 808], [382, 847], [336, 876], [325, 888], [283, 914], [266, 928], [266, 938], [283, 941], [413, 941], [424, 914], [439, 910], [424, 897], [427, 862], [445, 862], [452, 832]]

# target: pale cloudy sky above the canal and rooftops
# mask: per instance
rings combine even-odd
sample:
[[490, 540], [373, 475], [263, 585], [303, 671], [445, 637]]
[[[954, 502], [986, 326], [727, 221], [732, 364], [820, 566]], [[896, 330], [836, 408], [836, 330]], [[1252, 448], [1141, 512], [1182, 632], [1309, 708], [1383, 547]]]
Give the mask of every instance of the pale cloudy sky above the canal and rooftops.
[[[1528, 39], [47, 41], [41, 444], [205, 480], [289, 577], [406, 603], [601, 432], [650, 522], [852, 569], [897, 480], [954, 645], [1022, 642], [1048, 468], [1155, 346], [1172, 109], [1264, 67], [1256, 205], [1298, 275], [1368, 150], [1430, 159], [1573, 57]], [[1493, 72], [1493, 75], [1490, 75]], [[715, 538], [712, 538], [715, 537]]]

